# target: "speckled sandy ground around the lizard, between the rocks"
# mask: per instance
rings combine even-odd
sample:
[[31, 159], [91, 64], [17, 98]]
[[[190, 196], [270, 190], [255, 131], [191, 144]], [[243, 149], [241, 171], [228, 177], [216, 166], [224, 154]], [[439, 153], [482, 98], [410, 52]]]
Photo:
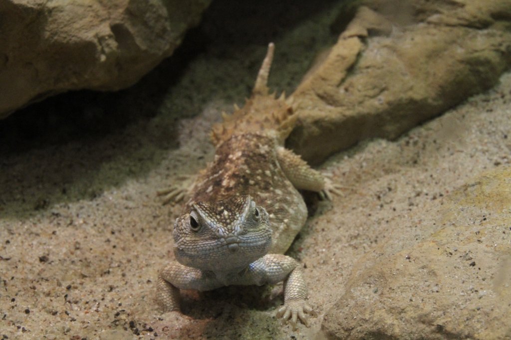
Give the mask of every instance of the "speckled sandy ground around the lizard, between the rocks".
[[[296, 30], [332, 16], [327, 12], [311, 15]], [[329, 41], [329, 34], [314, 46]], [[281, 45], [293, 39], [298, 37], [282, 38]], [[344, 186], [343, 195], [333, 202], [310, 200], [314, 214], [289, 252], [304, 264], [310, 303], [318, 312], [310, 328], [294, 331], [274, 318], [283, 303], [278, 285], [228, 287], [200, 296], [188, 292], [183, 299], [186, 316], [162, 319], [154, 282], [157, 270], [173, 259], [171, 230], [181, 207], [162, 206], [155, 192], [196, 173], [211, 159], [208, 131], [222, 110], [242, 104], [264, 46], [246, 45], [229, 57], [206, 51], [160, 89], [157, 99], [138, 94], [143, 86], [161, 84], [161, 76], [153, 75], [113, 100], [70, 94], [31, 109], [65, 111], [64, 118], [54, 122], [50, 115], [43, 125], [46, 130], [59, 126], [59, 137], [54, 131], [34, 136], [20, 132], [30, 126], [22, 119], [36, 117], [30, 112], [14, 123], [1, 123], [0, 131], [8, 136], [0, 157], [0, 335], [321, 338], [322, 315], [342, 295], [358, 258], [395, 235], [395, 228], [401, 228], [404, 239], [410, 233], [417, 238], [431, 234], [435, 229], [423, 223], [430, 218], [421, 215], [423, 207], [437, 204], [484, 169], [509, 164], [508, 74], [495, 89], [397, 141], [367, 141], [322, 166]], [[313, 56], [308, 53], [308, 61], [295, 65], [290, 76], [282, 65], [298, 59], [286, 52], [279, 55], [278, 46], [277, 41], [279, 83], [270, 85], [289, 92]], [[244, 54], [250, 58], [242, 58]], [[174, 72], [172, 64], [157, 71]], [[74, 118], [72, 109], [90, 100], [97, 101], [85, 105], [90, 119]], [[146, 100], [154, 114], [134, 114], [140, 109], [137, 103]], [[123, 109], [128, 118], [120, 127], [97, 120]], [[77, 133], [82, 128], [86, 133]]]

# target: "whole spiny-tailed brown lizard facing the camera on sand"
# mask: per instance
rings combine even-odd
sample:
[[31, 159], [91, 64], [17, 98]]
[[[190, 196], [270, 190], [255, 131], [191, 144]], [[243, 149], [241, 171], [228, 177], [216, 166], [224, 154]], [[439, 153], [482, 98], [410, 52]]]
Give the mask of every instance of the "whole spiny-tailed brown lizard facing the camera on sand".
[[[173, 229], [174, 254], [158, 273], [157, 300], [164, 312], [179, 311], [179, 290], [284, 281], [283, 322], [309, 325], [301, 266], [283, 255], [305, 225], [307, 207], [298, 189], [327, 195], [328, 180], [284, 147], [296, 116], [283, 93], [267, 86], [274, 44], [268, 45], [245, 105], [212, 128], [216, 151], [189, 189], [190, 199]], [[182, 198], [163, 190], [166, 202]]]

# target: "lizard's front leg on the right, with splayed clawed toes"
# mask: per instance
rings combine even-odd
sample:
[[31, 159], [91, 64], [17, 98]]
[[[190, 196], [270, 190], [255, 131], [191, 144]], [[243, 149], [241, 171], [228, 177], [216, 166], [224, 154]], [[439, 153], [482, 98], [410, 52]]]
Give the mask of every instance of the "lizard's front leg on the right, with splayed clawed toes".
[[[296, 329], [300, 319], [309, 326], [306, 313], [315, 315], [312, 307], [306, 302], [307, 284], [302, 276], [301, 267], [292, 257], [282, 254], [267, 254], [249, 266], [245, 279], [253, 281], [245, 284], [278, 283], [284, 281], [284, 306], [277, 312], [277, 318], [284, 321], [291, 318], [291, 324]], [[238, 283], [243, 284], [243, 283]]]

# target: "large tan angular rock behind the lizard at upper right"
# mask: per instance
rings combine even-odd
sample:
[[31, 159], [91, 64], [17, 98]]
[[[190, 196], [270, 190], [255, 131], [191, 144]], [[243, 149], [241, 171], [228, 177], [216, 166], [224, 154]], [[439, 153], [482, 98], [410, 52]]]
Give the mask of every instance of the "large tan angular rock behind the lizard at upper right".
[[404, 0], [399, 14], [392, 2], [364, 3], [293, 93], [287, 145], [312, 163], [396, 138], [490, 88], [511, 64], [509, 0]]

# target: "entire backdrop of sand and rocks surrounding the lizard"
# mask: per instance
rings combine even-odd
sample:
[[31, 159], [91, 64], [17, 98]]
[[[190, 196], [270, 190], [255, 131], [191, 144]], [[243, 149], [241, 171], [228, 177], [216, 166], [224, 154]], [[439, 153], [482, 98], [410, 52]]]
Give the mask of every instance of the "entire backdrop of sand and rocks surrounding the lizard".
[[[138, 81], [0, 121], [4, 338], [511, 337], [511, 1], [209, 3], [0, 0], [2, 116]], [[288, 146], [343, 186], [289, 251], [318, 316], [281, 326], [277, 285], [161, 318], [181, 207], [155, 192], [211, 159], [269, 41]]]

